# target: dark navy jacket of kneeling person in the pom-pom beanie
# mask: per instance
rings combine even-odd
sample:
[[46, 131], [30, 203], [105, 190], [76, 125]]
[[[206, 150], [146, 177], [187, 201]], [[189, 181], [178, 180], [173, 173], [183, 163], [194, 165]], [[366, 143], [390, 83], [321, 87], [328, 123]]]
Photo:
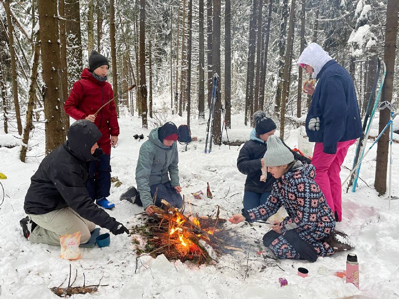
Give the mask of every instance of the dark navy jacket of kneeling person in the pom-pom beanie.
[[[263, 158], [267, 145], [265, 141], [261, 139], [254, 138], [253, 132], [251, 133], [251, 139], [248, 140], [243, 147], [240, 149], [240, 153], [237, 158], [237, 168], [238, 170], [246, 174], [245, 188], [244, 191], [251, 192], [270, 192], [271, 186], [276, 181], [276, 179], [267, 172], [266, 182], [260, 181], [260, 176], [262, 175], [260, 159]], [[284, 142], [283, 144], [291, 150], [294, 155], [295, 160], [300, 160], [303, 163], [310, 164], [311, 160], [307, 157], [302, 156], [290, 149]]]

